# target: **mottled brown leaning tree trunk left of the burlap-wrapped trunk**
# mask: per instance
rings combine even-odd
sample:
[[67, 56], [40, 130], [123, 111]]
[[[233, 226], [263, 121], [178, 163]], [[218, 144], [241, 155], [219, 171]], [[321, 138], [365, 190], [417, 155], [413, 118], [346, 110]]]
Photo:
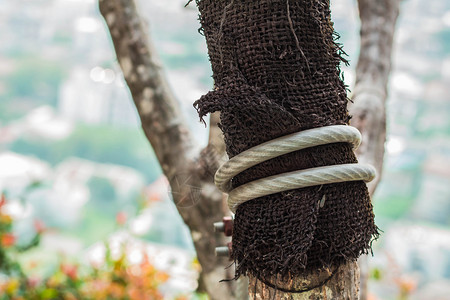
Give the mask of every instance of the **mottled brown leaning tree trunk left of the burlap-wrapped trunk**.
[[199, 284], [211, 299], [232, 299], [230, 284], [219, 284], [230, 277], [225, 270], [229, 262], [214, 252], [216, 246], [225, 244], [225, 238], [214, 233], [212, 225], [227, 213], [223, 195], [213, 183], [223, 151], [217, 116], [212, 117], [208, 146], [199, 149], [167, 85], [135, 2], [100, 0], [99, 5], [142, 128], [169, 180], [178, 212], [190, 229], [202, 266]]

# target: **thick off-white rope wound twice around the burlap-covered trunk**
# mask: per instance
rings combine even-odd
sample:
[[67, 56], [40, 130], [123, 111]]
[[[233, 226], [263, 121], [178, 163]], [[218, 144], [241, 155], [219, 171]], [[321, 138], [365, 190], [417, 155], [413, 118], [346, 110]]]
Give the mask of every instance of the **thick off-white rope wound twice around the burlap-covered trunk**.
[[293, 151], [342, 142], [357, 148], [361, 134], [351, 126], [332, 125], [286, 135], [234, 156], [217, 170], [214, 181], [222, 192], [228, 193], [228, 207], [232, 212], [246, 201], [283, 191], [345, 181], [371, 181], [375, 177], [375, 168], [354, 163], [282, 173], [231, 188], [234, 176], [259, 163]]

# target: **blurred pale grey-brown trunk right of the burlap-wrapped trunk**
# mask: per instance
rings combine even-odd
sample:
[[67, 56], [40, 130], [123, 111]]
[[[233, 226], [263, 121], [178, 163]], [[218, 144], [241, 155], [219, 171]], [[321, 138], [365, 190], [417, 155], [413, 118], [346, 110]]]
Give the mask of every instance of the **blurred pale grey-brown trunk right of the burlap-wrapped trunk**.
[[[361, 19], [361, 45], [356, 67], [353, 116], [350, 124], [363, 136], [356, 154], [362, 163], [375, 166], [377, 177], [368, 184], [372, 196], [381, 179], [386, 140], [387, 83], [391, 71], [392, 44], [400, 0], [358, 0]], [[369, 266], [367, 256], [359, 259], [360, 298], [367, 299]]]

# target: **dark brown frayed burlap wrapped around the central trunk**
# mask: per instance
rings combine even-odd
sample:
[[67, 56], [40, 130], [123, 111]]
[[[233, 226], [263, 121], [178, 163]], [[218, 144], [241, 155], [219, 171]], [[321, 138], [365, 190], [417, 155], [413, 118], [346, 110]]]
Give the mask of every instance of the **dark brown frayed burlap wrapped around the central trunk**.
[[[348, 123], [339, 69], [345, 60], [327, 0], [197, 0], [197, 5], [215, 90], [195, 106], [200, 117], [221, 112], [229, 157], [293, 132]], [[349, 144], [319, 146], [261, 163], [232, 184], [354, 162]], [[241, 205], [232, 257], [237, 276], [295, 276], [355, 259], [377, 235], [364, 182], [314, 186]]]

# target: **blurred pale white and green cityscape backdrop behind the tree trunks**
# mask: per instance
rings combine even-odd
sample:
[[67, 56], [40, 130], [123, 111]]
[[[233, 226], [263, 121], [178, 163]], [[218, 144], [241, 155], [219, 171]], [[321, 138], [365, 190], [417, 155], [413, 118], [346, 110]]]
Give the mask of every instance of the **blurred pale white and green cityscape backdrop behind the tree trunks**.
[[[140, 11], [206, 145], [192, 103], [213, 82], [197, 10], [185, 2], [141, 1]], [[331, 2], [352, 87], [357, 4]], [[120, 296], [111, 274], [130, 286], [150, 278], [155, 299], [191, 297], [199, 265], [190, 234], [140, 129], [97, 1], [0, 0], [0, 36], [0, 299], [25, 293], [8, 272], [27, 274], [42, 299], [58, 284], [83, 295], [103, 284]], [[450, 295], [450, 2], [402, 2], [387, 113], [373, 199], [384, 233], [370, 258], [370, 297], [437, 299]]]

